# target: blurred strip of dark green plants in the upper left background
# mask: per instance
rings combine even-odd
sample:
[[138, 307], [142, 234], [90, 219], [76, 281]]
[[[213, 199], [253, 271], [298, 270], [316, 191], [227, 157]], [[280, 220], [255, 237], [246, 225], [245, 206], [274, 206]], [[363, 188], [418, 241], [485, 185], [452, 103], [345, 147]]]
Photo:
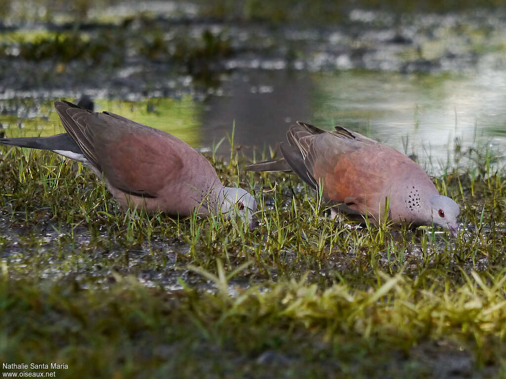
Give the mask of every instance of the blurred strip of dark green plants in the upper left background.
[[128, 55], [125, 50], [129, 48], [130, 55], [154, 62], [173, 62], [198, 77], [201, 71], [210, 70], [208, 61], [231, 53], [227, 38], [214, 35], [208, 29], [196, 37], [189, 37], [183, 32], [167, 36], [160, 26], [153, 28], [147, 25], [154, 20], [141, 17], [138, 21], [146, 23], [143, 33], [134, 32], [128, 23], [110, 25], [108, 30], [96, 33], [86, 30], [5, 33], [0, 38], [0, 57], [57, 63], [81, 60], [88, 64], [110, 63], [117, 67]]

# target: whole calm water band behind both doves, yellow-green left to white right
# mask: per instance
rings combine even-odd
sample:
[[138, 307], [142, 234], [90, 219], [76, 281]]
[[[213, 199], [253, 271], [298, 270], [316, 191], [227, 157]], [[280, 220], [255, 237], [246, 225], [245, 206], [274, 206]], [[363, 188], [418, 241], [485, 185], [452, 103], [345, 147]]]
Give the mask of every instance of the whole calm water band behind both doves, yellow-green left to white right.
[[[96, 110], [166, 130], [203, 150], [230, 135], [235, 122], [235, 145], [248, 156], [254, 148], [267, 151], [285, 140], [296, 120], [327, 129], [341, 125], [415, 153], [422, 163], [429, 162], [430, 154], [432, 172], [451, 158], [455, 138], [463, 147], [487, 142], [502, 148], [506, 137], [506, 72], [501, 70], [467, 76], [250, 70], [231, 74], [209, 91], [203, 102], [190, 96], [143, 102], [97, 99]], [[62, 131], [50, 102], [34, 107], [0, 115], [7, 136]], [[225, 142], [218, 154], [228, 153]]]

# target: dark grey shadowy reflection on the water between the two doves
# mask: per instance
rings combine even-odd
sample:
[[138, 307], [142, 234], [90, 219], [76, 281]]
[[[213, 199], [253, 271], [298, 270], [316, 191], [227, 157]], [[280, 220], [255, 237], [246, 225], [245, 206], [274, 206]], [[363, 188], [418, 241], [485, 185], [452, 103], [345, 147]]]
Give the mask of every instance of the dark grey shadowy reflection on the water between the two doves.
[[[252, 154], [285, 139], [286, 129], [296, 120], [311, 118], [313, 80], [308, 73], [291, 71], [251, 71], [234, 74], [223, 83], [223, 95], [204, 102], [203, 139], [212, 144], [235, 121], [235, 144]], [[220, 147], [226, 153], [228, 144]]]

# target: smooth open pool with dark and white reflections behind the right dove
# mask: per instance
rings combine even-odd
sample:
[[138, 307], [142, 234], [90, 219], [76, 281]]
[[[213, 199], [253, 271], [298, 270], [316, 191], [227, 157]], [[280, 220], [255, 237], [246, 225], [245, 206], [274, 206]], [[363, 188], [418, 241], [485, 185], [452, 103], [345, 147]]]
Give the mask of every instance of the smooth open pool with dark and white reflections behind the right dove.
[[[271, 86], [268, 93], [258, 88]], [[433, 171], [451, 157], [454, 139], [464, 147], [503, 143], [506, 74], [415, 75], [346, 71], [270, 71], [234, 76], [225, 96], [213, 96], [203, 112], [203, 140], [236, 124], [239, 144], [263, 148], [284, 140], [288, 125], [304, 120], [331, 129], [340, 125], [415, 153]], [[478, 137], [479, 140], [476, 138]]]

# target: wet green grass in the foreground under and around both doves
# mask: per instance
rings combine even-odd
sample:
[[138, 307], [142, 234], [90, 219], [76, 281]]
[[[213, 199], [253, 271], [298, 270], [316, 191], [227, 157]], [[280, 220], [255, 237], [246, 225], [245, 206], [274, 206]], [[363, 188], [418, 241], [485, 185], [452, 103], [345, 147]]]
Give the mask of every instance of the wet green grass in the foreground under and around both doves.
[[506, 178], [486, 149], [457, 147], [435, 179], [461, 206], [455, 239], [323, 217], [297, 178], [246, 174], [234, 152], [209, 160], [256, 192], [254, 231], [125, 212], [79, 164], [1, 151], [3, 362], [68, 364], [57, 377], [506, 374]]

